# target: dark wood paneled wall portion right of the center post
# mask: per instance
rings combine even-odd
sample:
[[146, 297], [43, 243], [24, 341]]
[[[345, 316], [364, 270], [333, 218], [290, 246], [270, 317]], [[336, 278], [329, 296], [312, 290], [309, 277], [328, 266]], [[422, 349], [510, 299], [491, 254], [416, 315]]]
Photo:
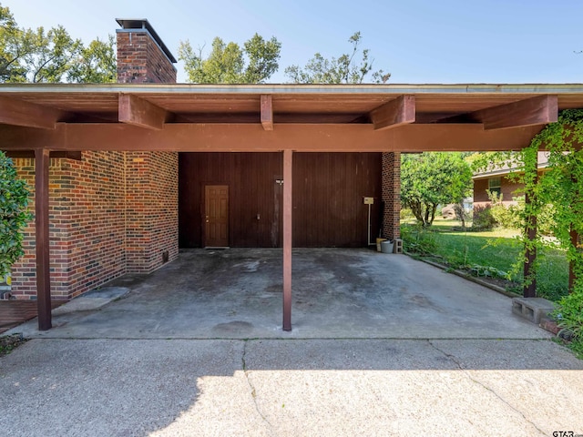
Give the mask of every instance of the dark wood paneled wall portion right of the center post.
[[293, 155], [293, 246], [360, 248], [378, 236], [381, 211], [380, 153]]

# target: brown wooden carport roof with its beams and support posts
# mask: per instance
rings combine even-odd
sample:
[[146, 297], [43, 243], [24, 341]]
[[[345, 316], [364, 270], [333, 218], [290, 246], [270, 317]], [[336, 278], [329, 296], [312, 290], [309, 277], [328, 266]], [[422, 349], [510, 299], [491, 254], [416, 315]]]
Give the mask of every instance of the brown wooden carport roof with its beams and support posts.
[[[36, 168], [39, 329], [51, 327], [51, 158], [83, 159], [87, 151], [281, 154], [282, 319], [283, 330], [291, 330], [296, 153], [383, 154], [391, 165], [386, 171], [391, 172], [388, 193], [394, 202], [390, 226], [397, 220], [394, 236], [401, 152], [517, 150], [556, 121], [558, 110], [579, 107], [583, 86], [578, 85], [2, 85], [0, 149], [13, 157], [34, 157]], [[132, 156], [136, 164], [144, 159]], [[137, 175], [139, 184], [148, 169]], [[156, 183], [155, 173], [149, 175]], [[161, 222], [164, 217], [148, 219]], [[168, 225], [178, 246], [176, 228]], [[150, 244], [151, 239], [156, 235], [143, 240]], [[126, 239], [123, 248], [128, 246]], [[175, 256], [166, 251], [161, 259]]]

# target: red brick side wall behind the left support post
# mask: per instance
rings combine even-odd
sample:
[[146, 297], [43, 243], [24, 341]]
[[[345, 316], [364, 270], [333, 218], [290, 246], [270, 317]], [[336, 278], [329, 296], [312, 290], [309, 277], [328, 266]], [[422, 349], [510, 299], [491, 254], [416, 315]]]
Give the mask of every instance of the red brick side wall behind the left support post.
[[[15, 159], [34, 193], [34, 159]], [[126, 272], [124, 156], [84, 152], [81, 161], [51, 159], [49, 238], [51, 295], [68, 299]], [[34, 210], [34, 198], [31, 209]], [[25, 232], [25, 257], [12, 269], [12, 294], [36, 296], [34, 221]]]

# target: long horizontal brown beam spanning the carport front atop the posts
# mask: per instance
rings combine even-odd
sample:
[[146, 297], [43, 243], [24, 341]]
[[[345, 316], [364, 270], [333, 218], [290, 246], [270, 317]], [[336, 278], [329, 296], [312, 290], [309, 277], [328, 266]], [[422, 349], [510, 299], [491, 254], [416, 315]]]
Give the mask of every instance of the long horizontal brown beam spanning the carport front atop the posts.
[[517, 150], [542, 126], [484, 130], [479, 124], [371, 125], [282, 124], [266, 132], [259, 124], [167, 124], [149, 130], [124, 124], [59, 124], [55, 130], [0, 126], [0, 150], [160, 150], [266, 152]]

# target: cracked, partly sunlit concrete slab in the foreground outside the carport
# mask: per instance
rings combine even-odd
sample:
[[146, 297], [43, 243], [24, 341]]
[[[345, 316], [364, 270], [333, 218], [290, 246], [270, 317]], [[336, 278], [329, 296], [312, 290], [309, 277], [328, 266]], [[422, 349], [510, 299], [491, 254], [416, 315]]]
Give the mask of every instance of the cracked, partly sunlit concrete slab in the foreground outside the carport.
[[[527, 360], [526, 351], [539, 358]], [[578, 433], [581, 376], [583, 361], [548, 340], [30, 340], [0, 358], [0, 429], [11, 436]]]

